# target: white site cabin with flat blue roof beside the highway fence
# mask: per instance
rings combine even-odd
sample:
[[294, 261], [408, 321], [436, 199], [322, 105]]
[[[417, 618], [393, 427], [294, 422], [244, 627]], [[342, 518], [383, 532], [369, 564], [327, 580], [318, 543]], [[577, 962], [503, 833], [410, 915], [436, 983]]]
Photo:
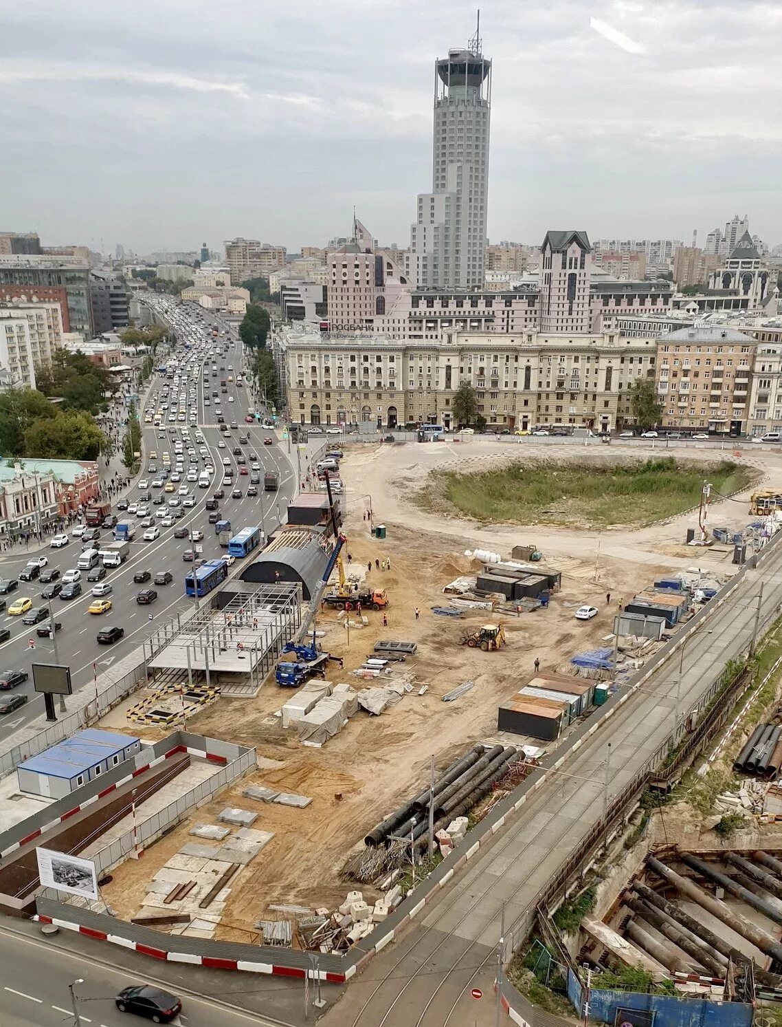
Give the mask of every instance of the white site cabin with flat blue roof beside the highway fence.
[[85, 728], [16, 767], [21, 792], [62, 799], [102, 773], [133, 757], [141, 739]]

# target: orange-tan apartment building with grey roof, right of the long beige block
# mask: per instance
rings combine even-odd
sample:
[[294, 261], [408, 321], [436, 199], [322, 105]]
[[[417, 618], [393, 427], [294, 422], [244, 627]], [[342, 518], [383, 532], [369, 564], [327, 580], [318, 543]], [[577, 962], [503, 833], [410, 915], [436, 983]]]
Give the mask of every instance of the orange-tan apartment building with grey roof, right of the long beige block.
[[663, 427], [745, 432], [756, 341], [733, 328], [696, 325], [662, 335], [658, 342]]

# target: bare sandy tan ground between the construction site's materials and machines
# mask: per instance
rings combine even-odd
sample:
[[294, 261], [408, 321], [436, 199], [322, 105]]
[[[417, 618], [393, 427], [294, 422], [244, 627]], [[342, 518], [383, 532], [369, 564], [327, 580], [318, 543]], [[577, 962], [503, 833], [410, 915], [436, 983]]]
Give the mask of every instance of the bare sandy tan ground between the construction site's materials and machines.
[[[585, 452], [580, 447], [573, 450], [574, 456]], [[388, 626], [383, 625], [382, 613], [368, 612], [368, 626], [351, 630], [349, 645], [334, 610], [318, 616], [317, 627], [325, 632], [323, 649], [345, 659], [343, 670], [331, 665], [328, 680], [362, 687], [361, 680], [349, 672], [384, 637], [418, 642], [416, 657], [397, 664], [416, 674], [417, 687], [381, 717], [359, 712], [322, 749], [302, 746], [295, 732], [279, 726], [274, 713], [289, 693], [273, 681], [255, 699], [221, 699], [193, 717], [188, 722], [193, 731], [256, 747], [264, 768], [198, 809], [148, 849], [144, 860], [128, 861], [114, 871], [114, 881], [105, 892], [120, 915], [136, 912], [147, 881], [193, 840], [190, 828], [196, 823], [214, 823], [226, 805], [256, 810], [259, 817], [253, 827], [273, 831], [275, 837], [242, 870], [228, 900], [219, 938], [248, 940], [255, 920], [270, 903], [334, 909], [351, 886], [341, 874], [351, 849], [361, 847], [364, 834], [378, 821], [425, 786], [432, 754], [441, 767], [473, 743], [497, 734], [499, 702], [532, 675], [536, 657], [544, 670], [554, 669], [575, 652], [599, 644], [612, 630], [617, 600], [665, 571], [693, 566], [729, 573], [732, 569], [729, 547], [704, 551], [681, 544], [693, 522], [688, 517], [654, 528], [598, 534], [471, 525], [424, 514], [409, 504], [412, 490], [433, 466], [467, 456], [480, 459], [482, 453], [496, 454], [497, 446], [479, 441], [463, 449], [432, 444], [355, 447], [346, 452], [342, 477], [348, 487], [347, 548], [354, 567], [365, 569], [372, 562], [374, 568], [376, 559], [391, 559], [390, 570], [373, 569], [367, 578], [368, 584], [387, 588], [391, 605]], [[516, 448], [510, 453], [518, 455]], [[779, 458], [775, 461], [779, 463]], [[782, 470], [773, 469], [770, 484], [775, 480], [782, 483]], [[388, 529], [383, 542], [370, 536], [363, 519], [368, 495], [376, 522], [385, 523]], [[719, 503], [718, 508], [715, 504], [711, 522], [744, 524], [747, 509], [743, 502]], [[547, 565], [561, 570], [561, 592], [546, 611], [518, 618], [503, 614], [499, 619], [505, 624], [508, 645], [501, 652], [463, 647], [459, 639], [465, 627], [498, 619], [481, 611], [469, 612], [460, 620], [431, 613], [430, 608], [443, 601], [442, 587], [447, 582], [479, 569], [464, 550], [479, 545], [508, 555], [512, 545], [529, 542], [543, 549]], [[608, 592], [613, 596], [611, 611], [605, 608]], [[574, 611], [583, 603], [597, 606], [600, 614], [588, 622], [575, 620]], [[416, 606], [421, 611], [419, 620]], [[441, 701], [446, 691], [468, 679], [475, 682], [471, 691], [456, 702]], [[428, 690], [419, 696], [418, 687], [424, 684]], [[154, 729], [144, 734], [159, 736]], [[303, 793], [313, 802], [305, 809], [253, 802], [241, 795], [248, 784]], [[372, 889], [363, 890], [367, 899], [373, 896]]]

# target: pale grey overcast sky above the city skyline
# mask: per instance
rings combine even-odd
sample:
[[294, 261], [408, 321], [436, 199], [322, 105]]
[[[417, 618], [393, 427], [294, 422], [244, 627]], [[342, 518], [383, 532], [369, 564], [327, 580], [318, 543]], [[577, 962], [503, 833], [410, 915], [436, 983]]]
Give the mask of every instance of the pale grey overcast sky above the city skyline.
[[[782, 3], [478, 0], [488, 233], [782, 242]], [[607, 27], [607, 38], [590, 27]], [[406, 245], [464, 0], [0, 0], [0, 230], [136, 252]]]

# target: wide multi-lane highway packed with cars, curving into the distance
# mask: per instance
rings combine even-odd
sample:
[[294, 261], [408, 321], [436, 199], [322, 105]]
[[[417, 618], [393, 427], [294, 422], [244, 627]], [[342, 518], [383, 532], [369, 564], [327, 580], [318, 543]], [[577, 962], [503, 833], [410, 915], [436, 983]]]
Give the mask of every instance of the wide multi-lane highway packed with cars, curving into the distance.
[[[56, 658], [71, 667], [74, 687], [78, 689], [91, 684], [93, 663], [96, 663], [97, 673], [103, 672], [107, 660], [110, 663], [112, 657], [116, 659], [141, 645], [161, 620], [192, 604], [192, 599], [185, 597], [184, 587], [185, 574], [191, 564], [183, 559], [184, 553], [191, 548], [191, 540], [189, 535], [178, 538], [177, 532], [179, 529], [179, 533], [184, 534], [187, 528], [203, 534], [203, 539], [197, 542], [203, 547], [199, 557], [208, 560], [226, 555], [219, 546], [214, 526], [208, 523], [204, 506], [216, 491], [222, 489], [224, 493], [219, 499], [219, 512], [222, 520], [231, 522], [232, 533], [243, 527], [261, 525], [263, 521], [267, 534], [284, 520], [287, 501], [297, 491], [298, 476], [287, 456], [287, 444], [280, 444], [274, 430], [255, 420], [251, 424], [245, 423], [252, 400], [249, 381], [237, 384], [244, 368], [243, 346], [238, 341], [235, 326], [194, 304], [171, 305], [171, 309], [163, 311], [161, 308], [160, 312], [170, 319], [178, 343], [170, 354], [158, 360], [159, 367], [169, 364], [169, 373], [156, 372], [149, 390], [141, 397], [142, 472], [123, 500], [120, 503], [115, 500], [112, 508], [119, 520], [133, 521], [136, 529], [127, 561], [120, 568], [107, 571], [102, 581], [95, 582], [111, 586], [105, 598], [111, 601], [112, 609], [103, 614], [88, 613], [94, 598], [91, 594], [93, 582], [86, 580], [87, 571], [83, 570], [79, 597], [63, 600], [57, 596], [48, 600], [54, 619], [62, 624], [54, 640], [38, 638], [36, 627], [23, 624], [22, 616], [11, 616], [7, 610], [0, 613], [0, 630], [10, 631], [10, 638], [0, 643], [0, 664], [3, 669], [30, 674], [25, 683], [13, 689], [13, 694], [25, 694], [29, 701], [0, 719], [0, 737], [42, 713], [42, 696], [33, 691], [31, 664], [52, 660], [55, 646]], [[217, 338], [212, 335], [213, 325], [218, 325]], [[226, 384], [221, 385], [221, 381]], [[223, 418], [225, 424], [220, 424], [218, 417]], [[265, 445], [266, 440], [271, 444]], [[177, 453], [179, 447], [181, 456]], [[164, 453], [170, 458], [170, 472], [160, 485], [153, 487], [153, 482], [161, 481]], [[243, 462], [239, 463], [240, 460]], [[258, 468], [255, 471], [253, 466]], [[242, 469], [246, 472], [241, 473]], [[198, 478], [204, 470], [209, 472], [209, 487], [205, 489], [192, 481], [194, 474]], [[276, 470], [279, 474], [277, 492], [264, 491], [267, 470]], [[230, 477], [230, 485], [224, 484], [227, 477]], [[259, 479], [255, 486], [258, 494], [248, 496], [247, 489], [255, 478]], [[240, 498], [232, 498], [235, 489], [241, 492]], [[124, 502], [131, 510], [141, 503], [142, 509], [129, 512], [118, 508]], [[193, 505], [185, 505], [186, 502]], [[148, 508], [146, 512], [144, 507]], [[145, 523], [150, 518], [159, 536], [145, 541]], [[90, 544], [100, 548], [111, 540], [112, 531], [104, 529], [97, 542]], [[48, 561], [43, 572], [58, 571], [60, 577], [53, 583], [62, 583], [66, 572], [76, 568], [81, 551], [82, 541], [72, 530], [69, 543], [63, 548], [31, 547], [24, 555], [4, 557], [0, 560], [0, 578], [17, 580], [28, 561], [40, 556]], [[153, 580], [134, 582], [134, 575], [143, 571], [149, 571], [153, 579], [159, 571], [170, 571], [172, 580], [161, 585], [155, 585]], [[19, 581], [18, 587], [2, 598], [8, 608], [14, 600], [29, 598], [35, 609], [48, 605], [41, 596], [48, 586], [37, 579]], [[136, 596], [146, 587], [155, 588], [157, 599], [148, 606], [139, 605]], [[149, 619], [150, 614], [153, 621]], [[113, 645], [99, 645], [97, 632], [114, 624], [124, 629], [124, 637]], [[30, 647], [31, 640], [35, 648]]]

